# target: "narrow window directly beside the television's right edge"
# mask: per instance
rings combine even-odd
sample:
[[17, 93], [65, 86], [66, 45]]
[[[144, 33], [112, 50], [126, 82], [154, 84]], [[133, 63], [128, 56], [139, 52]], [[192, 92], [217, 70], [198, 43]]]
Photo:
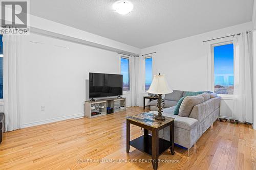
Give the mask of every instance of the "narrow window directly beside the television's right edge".
[[123, 91], [130, 90], [129, 58], [121, 57], [121, 75], [123, 75]]

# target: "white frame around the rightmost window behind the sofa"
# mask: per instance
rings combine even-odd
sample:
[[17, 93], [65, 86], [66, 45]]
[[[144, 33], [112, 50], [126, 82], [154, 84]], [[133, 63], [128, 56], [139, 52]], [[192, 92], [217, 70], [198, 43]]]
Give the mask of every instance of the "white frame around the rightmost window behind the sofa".
[[[215, 42], [215, 43], [212, 43], [210, 44], [210, 51], [211, 51], [211, 54], [210, 54], [210, 66], [211, 66], [211, 69], [210, 69], [210, 83], [209, 83], [209, 89], [214, 92], [214, 86], [215, 86], [215, 75], [214, 75], [214, 47], [215, 46], [220, 46], [220, 45], [227, 45], [227, 44], [233, 44], [234, 46], [234, 42], [232, 39], [227, 39], [225, 41], [219, 41], [219, 42]], [[234, 50], [234, 49], [233, 49]], [[233, 58], [234, 60], [234, 58]], [[222, 99], [233, 99], [233, 96], [234, 94], [218, 94], [219, 96], [221, 96]]]

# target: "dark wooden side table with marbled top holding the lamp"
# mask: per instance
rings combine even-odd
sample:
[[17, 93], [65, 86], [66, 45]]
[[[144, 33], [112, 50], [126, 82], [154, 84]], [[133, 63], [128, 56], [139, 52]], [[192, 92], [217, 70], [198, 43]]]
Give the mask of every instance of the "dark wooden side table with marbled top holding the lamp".
[[[153, 113], [141, 113], [126, 118], [126, 152], [129, 153], [130, 145], [145, 154], [152, 156], [152, 165], [156, 170], [158, 157], [170, 148], [174, 155], [174, 119], [165, 117], [165, 120], [156, 120]], [[144, 135], [130, 141], [130, 124], [144, 128]], [[170, 141], [159, 138], [159, 130], [170, 127]], [[152, 131], [152, 136], [148, 135]]]

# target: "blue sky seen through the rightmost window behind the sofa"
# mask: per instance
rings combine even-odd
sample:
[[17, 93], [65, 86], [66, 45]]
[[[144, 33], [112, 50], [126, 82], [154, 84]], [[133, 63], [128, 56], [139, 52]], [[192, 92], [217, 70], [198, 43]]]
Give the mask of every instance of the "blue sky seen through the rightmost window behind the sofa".
[[215, 85], [233, 85], [233, 44], [219, 45], [214, 47], [214, 74]]

